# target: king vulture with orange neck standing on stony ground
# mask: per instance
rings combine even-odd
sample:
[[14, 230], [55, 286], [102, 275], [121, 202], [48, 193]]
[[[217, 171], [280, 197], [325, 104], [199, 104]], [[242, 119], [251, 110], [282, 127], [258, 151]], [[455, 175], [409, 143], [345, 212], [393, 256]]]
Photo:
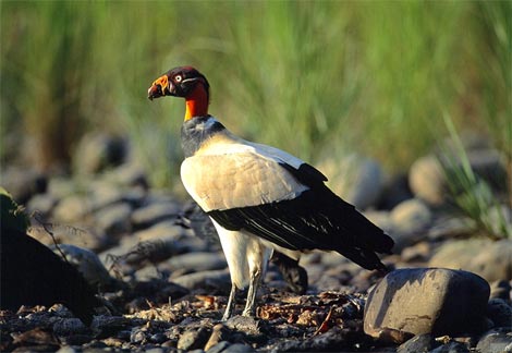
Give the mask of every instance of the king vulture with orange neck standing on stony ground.
[[225, 255], [232, 287], [224, 320], [247, 282], [242, 315], [255, 315], [273, 249], [295, 259], [301, 252], [336, 251], [366, 269], [387, 270], [376, 253], [391, 253], [392, 239], [332, 193], [317, 169], [228, 131], [208, 113], [209, 84], [202, 73], [191, 66], [168, 71], [148, 89], [150, 100], [163, 96], [185, 98], [181, 179], [211, 218]]

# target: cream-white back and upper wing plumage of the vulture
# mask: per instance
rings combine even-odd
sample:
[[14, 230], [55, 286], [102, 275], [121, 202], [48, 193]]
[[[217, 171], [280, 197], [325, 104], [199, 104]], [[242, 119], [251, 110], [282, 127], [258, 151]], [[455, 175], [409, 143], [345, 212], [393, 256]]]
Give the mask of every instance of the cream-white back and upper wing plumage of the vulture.
[[308, 190], [280, 162], [294, 168], [302, 163], [277, 148], [221, 135], [183, 161], [181, 178], [205, 211], [258, 206]]

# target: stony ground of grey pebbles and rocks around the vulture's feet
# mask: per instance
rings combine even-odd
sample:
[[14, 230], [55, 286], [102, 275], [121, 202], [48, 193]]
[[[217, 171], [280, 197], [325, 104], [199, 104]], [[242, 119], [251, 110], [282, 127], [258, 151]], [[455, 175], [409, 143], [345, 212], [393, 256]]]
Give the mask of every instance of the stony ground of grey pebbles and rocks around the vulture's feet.
[[[56, 252], [99, 290], [105, 307], [90, 327], [62, 305], [2, 311], [0, 351], [512, 351], [512, 240], [478, 236], [451, 212], [434, 156], [395, 178], [375, 161], [348, 158], [340, 163], [356, 171], [350, 186], [337, 183], [346, 178], [336, 163], [319, 166], [337, 193], [395, 240], [383, 280], [340, 255], [312, 253], [301, 259], [308, 290], [296, 294], [272, 263], [258, 318], [223, 322], [230, 280], [210, 224], [191, 202], [154, 190], [144, 170], [112, 155], [115, 142], [92, 141], [76, 156], [74, 178], [11, 167], [2, 184], [31, 215], [29, 234], [59, 243]], [[499, 154], [479, 143], [470, 157], [502, 193]], [[510, 208], [499, 211], [510, 226]], [[243, 295], [236, 313], [242, 307]]]

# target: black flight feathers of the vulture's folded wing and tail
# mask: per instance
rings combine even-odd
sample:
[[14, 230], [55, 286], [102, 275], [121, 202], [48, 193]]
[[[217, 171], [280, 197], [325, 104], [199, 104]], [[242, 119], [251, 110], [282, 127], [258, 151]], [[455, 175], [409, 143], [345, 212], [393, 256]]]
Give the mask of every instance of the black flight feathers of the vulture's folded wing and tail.
[[365, 268], [385, 269], [375, 253], [391, 253], [392, 239], [332, 193], [319, 171], [303, 166], [297, 170], [283, 165], [298, 181], [312, 187], [296, 198], [212, 210], [209, 216], [229, 230], [244, 229], [289, 249], [337, 251]]

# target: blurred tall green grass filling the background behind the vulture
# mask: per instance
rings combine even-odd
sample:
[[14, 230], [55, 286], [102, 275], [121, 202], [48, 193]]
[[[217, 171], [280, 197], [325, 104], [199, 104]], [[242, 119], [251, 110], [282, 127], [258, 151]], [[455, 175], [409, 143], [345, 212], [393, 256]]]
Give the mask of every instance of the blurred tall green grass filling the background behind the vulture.
[[68, 163], [101, 129], [130, 135], [153, 181], [172, 183], [184, 105], [146, 90], [183, 64], [208, 77], [229, 129], [312, 162], [361, 151], [406, 168], [444, 133], [441, 111], [511, 156], [510, 1], [0, 7], [2, 162], [24, 136], [40, 167]]

